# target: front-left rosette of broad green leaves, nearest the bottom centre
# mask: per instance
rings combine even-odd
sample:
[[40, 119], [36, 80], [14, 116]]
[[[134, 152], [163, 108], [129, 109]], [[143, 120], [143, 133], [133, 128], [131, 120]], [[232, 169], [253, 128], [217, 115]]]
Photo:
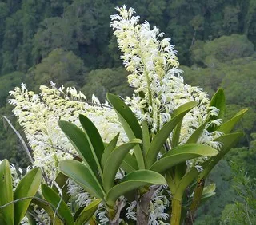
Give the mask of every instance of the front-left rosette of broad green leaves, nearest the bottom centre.
[[[102, 160], [102, 153], [105, 152], [105, 149], [108, 149], [108, 146], [102, 149], [103, 152], [100, 154], [97, 153], [100, 149], [94, 147], [96, 146], [95, 144], [98, 145], [100, 143], [98, 140], [101, 140], [97, 128], [86, 116], [80, 115], [79, 120], [82, 127], [85, 128], [85, 132], [82, 132], [80, 128], [69, 122], [58, 122], [62, 131], [70, 139], [85, 163], [64, 160], [59, 164], [59, 169], [63, 174], [82, 185], [82, 188], [95, 197], [104, 200], [109, 207], [114, 207], [115, 200], [127, 191], [132, 191], [147, 184], [165, 184], [165, 180], [160, 174], [143, 170], [129, 173], [122, 179], [120, 184], [114, 185], [115, 175], [122, 164], [122, 160], [124, 160], [131, 148], [141, 143], [141, 140], [130, 140], [128, 143], [114, 148], [108, 154], [104, 168], [102, 168], [99, 162]], [[108, 151], [106, 150], [106, 152]], [[142, 174], [144, 174], [144, 178]], [[146, 176], [147, 174], [148, 176]]]

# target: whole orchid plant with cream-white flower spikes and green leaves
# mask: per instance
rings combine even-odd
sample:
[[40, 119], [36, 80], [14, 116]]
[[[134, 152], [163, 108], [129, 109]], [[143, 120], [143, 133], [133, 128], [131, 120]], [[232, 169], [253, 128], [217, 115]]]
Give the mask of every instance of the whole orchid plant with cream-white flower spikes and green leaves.
[[35, 223], [46, 214], [48, 224], [192, 224], [214, 195], [206, 177], [242, 136], [230, 132], [246, 109], [223, 123], [223, 90], [210, 100], [187, 85], [170, 38], [134, 9], [116, 10], [110, 26], [132, 97], [108, 93], [102, 104], [53, 82], [39, 95], [24, 84], [10, 92], [45, 176]]

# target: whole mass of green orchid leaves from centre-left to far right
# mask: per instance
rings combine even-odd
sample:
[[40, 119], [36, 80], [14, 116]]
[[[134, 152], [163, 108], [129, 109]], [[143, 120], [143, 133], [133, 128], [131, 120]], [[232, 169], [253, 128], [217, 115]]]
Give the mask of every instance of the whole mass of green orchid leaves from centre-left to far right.
[[[59, 121], [62, 131], [74, 145], [84, 162], [82, 164], [77, 160], [64, 160], [59, 164], [60, 171], [80, 184], [91, 195], [102, 199], [102, 202], [110, 209], [110, 219], [115, 217], [117, 211], [115, 201], [119, 196], [141, 186], [167, 183], [173, 194], [171, 224], [179, 224], [182, 216], [181, 205], [191, 207], [192, 212], [194, 212], [200, 203], [214, 195], [214, 184], [204, 188], [204, 180], [212, 168], [218, 164], [218, 161], [242, 136], [242, 132], [230, 133], [230, 131], [246, 113], [246, 110], [237, 113], [219, 127], [208, 128], [211, 131], [217, 130], [226, 133], [226, 135], [216, 139], [216, 141], [222, 143], [221, 151], [217, 152], [214, 148], [196, 144], [196, 142], [207, 122], [224, 116], [225, 97], [222, 89], [218, 90], [210, 102], [210, 105], [220, 109], [219, 116], [209, 116], [206, 123], [202, 124], [190, 136], [187, 144], [180, 146], [178, 145], [179, 129], [181, 128], [182, 119], [190, 109], [197, 105], [196, 102], [188, 102], [176, 109], [172, 119], [153, 135], [150, 133], [146, 121], [142, 123], [141, 127], [134, 113], [119, 97], [107, 94], [107, 99], [118, 114], [130, 141], [116, 147], [117, 135], [109, 144], [104, 146], [97, 128], [86, 116], [79, 116], [83, 131], [70, 122]], [[173, 131], [172, 148], [170, 149], [167, 140]], [[166, 146], [166, 149], [164, 146]], [[133, 154], [129, 153], [131, 148], [134, 149]], [[160, 152], [162, 156], [158, 158]], [[209, 160], [201, 164], [203, 171], [198, 171], [196, 167], [187, 171], [186, 160], [202, 156], [209, 157]], [[126, 176], [117, 181], [115, 176], [119, 167], [126, 173]], [[198, 180], [198, 184], [203, 182], [202, 187], [192, 188], [194, 195], [187, 196], [186, 202], [182, 202], [186, 188], [195, 180]], [[176, 215], [174, 215], [174, 212]], [[178, 218], [176, 218], [177, 215]]]

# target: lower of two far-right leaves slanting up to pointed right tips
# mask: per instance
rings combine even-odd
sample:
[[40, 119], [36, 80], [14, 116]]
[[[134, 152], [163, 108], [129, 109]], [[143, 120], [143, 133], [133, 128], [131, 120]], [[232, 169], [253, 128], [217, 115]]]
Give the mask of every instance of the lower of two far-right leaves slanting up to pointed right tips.
[[198, 176], [198, 179], [205, 179], [206, 176], [208, 176], [208, 174], [210, 173], [210, 171], [214, 168], [214, 166], [218, 164], [219, 160], [222, 160], [226, 153], [229, 152], [230, 149], [233, 148], [234, 145], [238, 143], [238, 140], [240, 140], [242, 136], [243, 132], [235, 132], [220, 136], [217, 139], [215, 139], [215, 141], [222, 143], [221, 150], [219, 151], [217, 156], [210, 157], [209, 160], [206, 160], [205, 164], [207, 165], [204, 167], [203, 171]]

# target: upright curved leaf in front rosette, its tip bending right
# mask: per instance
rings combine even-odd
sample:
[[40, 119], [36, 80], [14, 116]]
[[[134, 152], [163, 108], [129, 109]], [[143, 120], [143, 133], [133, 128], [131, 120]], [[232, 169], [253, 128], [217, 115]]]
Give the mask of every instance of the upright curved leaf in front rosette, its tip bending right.
[[134, 148], [136, 144], [141, 144], [139, 139], [130, 140], [126, 144], [122, 144], [115, 148], [110, 156], [106, 160], [105, 169], [103, 171], [103, 187], [105, 191], [109, 191], [114, 185], [114, 177], [118, 172], [118, 168], [122, 164], [122, 160], [131, 148]]

